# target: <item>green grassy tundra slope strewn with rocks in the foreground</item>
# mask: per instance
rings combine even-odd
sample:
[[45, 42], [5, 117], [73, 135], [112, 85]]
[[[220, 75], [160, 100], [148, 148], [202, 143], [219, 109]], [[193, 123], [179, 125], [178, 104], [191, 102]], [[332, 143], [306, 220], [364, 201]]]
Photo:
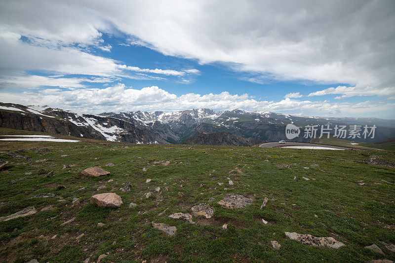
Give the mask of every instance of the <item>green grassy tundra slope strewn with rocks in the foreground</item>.
[[[0, 129], [0, 134], [7, 133], [29, 134]], [[395, 252], [382, 243], [395, 244], [395, 168], [359, 162], [372, 154], [393, 162], [394, 152], [154, 146], [77, 139], [81, 142], [0, 141], [0, 159], [9, 161], [0, 172], [0, 217], [29, 206], [38, 211], [0, 222], [0, 262], [83, 262], [87, 258], [96, 262], [102, 254], [108, 254], [102, 263], [395, 260]], [[9, 156], [10, 151], [27, 158]], [[105, 166], [109, 163], [114, 166]], [[281, 164], [290, 168], [276, 167]], [[111, 174], [81, 177], [81, 171], [91, 166]], [[50, 171], [54, 176], [45, 177]], [[147, 179], [152, 181], [146, 183]], [[128, 182], [129, 192], [119, 190]], [[149, 191], [152, 196], [146, 198], [144, 193]], [[112, 209], [89, 203], [92, 195], [103, 192], [117, 193], [123, 205]], [[40, 193], [55, 197], [32, 198]], [[223, 208], [217, 202], [228, 193], [247, 196], [253, 204], [244, 209]], [[73, 203], [75, 197], [79, 200]], [[269, 201], [261, 210], [265, 197]], [[131, 202], [137, 207], [129, 208]], [[199, 203], [215, 208], [211, 219], [194, 216], [196, 224], [189, 224], [168, 217], [191, 213]], [[262, 219], [269, 223], [264, 225]], [[177, 234], [167, 236], [152, 222], [176, 226]], [[228, 224], [228, 230], [223, 224]], [[285, 231], [333, 237], [346, 246], [308, 246], [290, 240]], [[273, 240], [281, 245], [278, 250], [272, 247]], [[364, 248], [372, 244], [384, 255]]]

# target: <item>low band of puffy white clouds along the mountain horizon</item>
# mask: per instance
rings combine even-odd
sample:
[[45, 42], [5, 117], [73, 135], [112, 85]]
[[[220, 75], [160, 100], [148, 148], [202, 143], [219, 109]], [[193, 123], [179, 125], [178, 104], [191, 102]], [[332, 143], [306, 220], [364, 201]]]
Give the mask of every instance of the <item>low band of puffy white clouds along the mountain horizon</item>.
[[114, 111], [180, 111], [210, 108], [217, 111], [244, 109], [248, 111], [271, 111], [278, 113], [321, 116], [371, 116], [373, 111], [394, 109], [395, 103], [331, 103], [328, 101], [299, 101], [285, 98], [280, 101], [255, 100], [248, 94], [187, 93], [175, 95], [157, 86], [135, 89], [124, 84], [98, 88], [47, 88], [26, 90], [23, 93], [0, 92], [3, 102], [25, 105], [49, 105], [77, 112], [103, 113]]

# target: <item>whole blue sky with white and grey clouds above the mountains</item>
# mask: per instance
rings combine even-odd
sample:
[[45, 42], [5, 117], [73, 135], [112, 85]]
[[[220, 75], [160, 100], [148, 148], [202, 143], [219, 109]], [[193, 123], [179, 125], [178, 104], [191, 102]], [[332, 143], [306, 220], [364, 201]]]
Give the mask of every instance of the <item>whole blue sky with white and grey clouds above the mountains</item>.
[[395, 1], [0, 1], [0, 102], [395, 119]]

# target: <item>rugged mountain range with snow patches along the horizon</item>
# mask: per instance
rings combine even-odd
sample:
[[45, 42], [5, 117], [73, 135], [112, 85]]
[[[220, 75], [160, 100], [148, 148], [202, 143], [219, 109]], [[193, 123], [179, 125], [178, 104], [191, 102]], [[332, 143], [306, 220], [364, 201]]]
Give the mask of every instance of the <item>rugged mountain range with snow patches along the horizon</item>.
[[357, 142], [378, 142], [395, 137], [395, 120], [298, 116], [243, 110], [214, 112], [194, 109], [179, 112], [75, 113], [47, 106], [0, 103], [0, 127], [88, 139], [134, 144], [212, 144], [251, 146], [286, 140], [285, 126], [292, 123], [302, 135], [292, 141], [307, 142], [306, 125], [376, 125], [374, 138], [353, 138]]

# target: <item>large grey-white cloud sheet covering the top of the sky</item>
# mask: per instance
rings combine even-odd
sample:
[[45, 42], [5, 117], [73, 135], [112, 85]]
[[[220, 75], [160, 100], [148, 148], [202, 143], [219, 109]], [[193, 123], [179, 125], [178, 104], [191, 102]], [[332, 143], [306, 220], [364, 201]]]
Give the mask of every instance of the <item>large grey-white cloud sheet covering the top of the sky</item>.
[[394, 89], [395, 4], [391, 0], [227, 4], [4, 0], [0, 4], [1, 31], [55, 46], [100, 46], [101, 32], [118, 31], [130, 43], [165, 55], [197, 59], [201, 64], [221, 62], [256, 74], [251, 81], [347, 83], [369, 87], [372, 93]]

